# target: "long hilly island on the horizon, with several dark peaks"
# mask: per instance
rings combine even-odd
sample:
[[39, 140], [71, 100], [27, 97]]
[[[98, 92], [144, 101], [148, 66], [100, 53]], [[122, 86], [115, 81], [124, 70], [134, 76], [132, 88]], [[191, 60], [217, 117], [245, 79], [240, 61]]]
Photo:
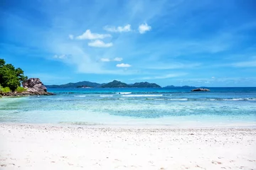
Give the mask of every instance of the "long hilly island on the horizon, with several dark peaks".
[[46, 85], [47, 88], [161, 88], [158, 84], [149, 82], [139, 82], [134, 84], [126, 84], [121, 81], [114, 80], [107, 84], [98, 84], [90, 81], [80, 81], [78, 83], [68, 83], [62, 85]]

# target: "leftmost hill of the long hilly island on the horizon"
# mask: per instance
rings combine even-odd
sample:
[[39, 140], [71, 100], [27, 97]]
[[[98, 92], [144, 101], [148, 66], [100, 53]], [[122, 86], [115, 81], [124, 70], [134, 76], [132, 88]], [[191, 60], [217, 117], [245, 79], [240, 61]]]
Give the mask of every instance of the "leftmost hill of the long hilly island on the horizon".
[[68, 83], [68, 84], [62, 84], [62, 85], [46, 85], [47, 88], [77, 88], [81, 86], [101, 87], [102, 84], [92, 83], [90, 81], [80, 81], [78, 83]]

